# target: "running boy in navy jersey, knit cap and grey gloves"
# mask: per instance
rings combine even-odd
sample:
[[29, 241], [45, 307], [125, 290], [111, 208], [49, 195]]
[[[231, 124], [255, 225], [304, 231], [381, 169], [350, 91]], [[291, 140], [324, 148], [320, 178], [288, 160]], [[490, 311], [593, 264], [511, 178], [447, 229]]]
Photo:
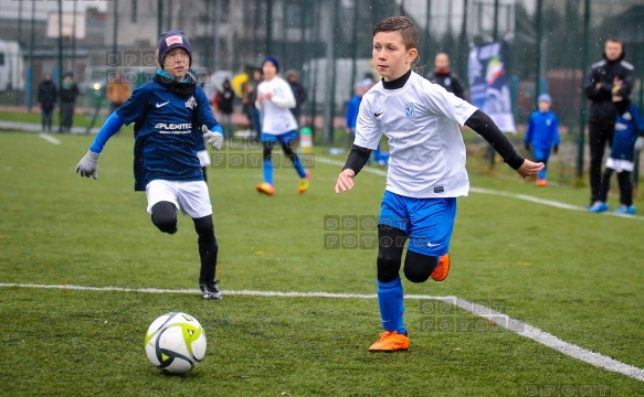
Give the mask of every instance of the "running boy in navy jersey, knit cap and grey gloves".
[[[135, 124], [135, 190], [146, 191], [148, 213], [159, 230], [177, 232], [177, 211], [190, 215], [199, 235], [204, 299], [221, 299], [215, 281], [219, 246], [212, 223], [212, 205], [197, 152], [203, 138], [221, 149], [223, 131], [210, 103], [188, 74], [192, 49], [180, 31], [161, 35], [160, 68], [154, 81], [136, 89], [105, 121], [89, 151], [76, 165], [81, 176], [98, 178], [98, 158], [107, 140], [125, 124]], [[193, 128], [192, 126], [196, 126]], [[203, 132], [198, 131], [200, 129]]]

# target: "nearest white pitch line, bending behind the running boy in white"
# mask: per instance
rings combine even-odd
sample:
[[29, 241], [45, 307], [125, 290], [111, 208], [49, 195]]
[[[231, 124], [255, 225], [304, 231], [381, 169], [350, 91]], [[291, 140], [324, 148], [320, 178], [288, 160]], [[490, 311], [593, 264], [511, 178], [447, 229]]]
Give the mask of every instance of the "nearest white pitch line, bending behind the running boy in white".
[[[45, 286], [45, 285], [23, 285], [23, 283], [0, 283], [0, 288], [40, 288], [40, 289], [65, 289], [78, 291], [118, 291], [118, 292], [144, 292], [144, 293], [200, 293], [196, 289], [156, 289], [156, 288], [118, 288], [118, 287], [83, 287], [83, 286]], [[329, 292], [281, 292], [281, 291], [222, 291], [222, 294], [230, 296], [251, 296], [251, 297], [282, 297], [282, 298], [335, 298], [335, 299], [376, 299], [376, 294], [357, 294], [357, 293], [329, 293]], [[405, 296], [408, 300], [433, 299], [450, 303], [482, 316], [495, 324], [515, 332], [518, 335], [531, 339], [545, 346], [553, 348], [567, 356], [580, 360], [588, 364], [594, 365], [606, 371], [615, 372], [626, 375], [634, 379], [644, 382], [644, 369], [635, 366], [624, 364], [614, 358], [606, 357], [587, 348], [580, 347], [576, 344], [564, 342], [559, 337], [539, 330], [532, 325], [526, 324], [519, 320], [515, 320], [504, 313], [487, 308], [483, 304], [469, 302], [457, 297], [432, 297], [422, 294]]]

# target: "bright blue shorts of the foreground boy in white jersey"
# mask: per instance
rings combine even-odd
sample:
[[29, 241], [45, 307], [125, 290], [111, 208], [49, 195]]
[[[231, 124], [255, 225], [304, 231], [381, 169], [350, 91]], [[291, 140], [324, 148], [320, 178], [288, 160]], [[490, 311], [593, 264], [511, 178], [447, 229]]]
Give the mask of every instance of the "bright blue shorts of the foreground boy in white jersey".
[[391, 226], [409, 236], [408, 250], [443, 256], [456, 217], [456, 197], [412, 198], [384, 191], [378, 225]]

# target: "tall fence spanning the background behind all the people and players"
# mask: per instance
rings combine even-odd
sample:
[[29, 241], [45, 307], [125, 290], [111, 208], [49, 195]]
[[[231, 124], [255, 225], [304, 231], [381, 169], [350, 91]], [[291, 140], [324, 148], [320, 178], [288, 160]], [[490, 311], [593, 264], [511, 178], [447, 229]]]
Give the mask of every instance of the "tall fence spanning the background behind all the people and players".
[[[55, 11], [57, 4], [68, 10], [74, 2], [40, 1], [36, 10], [49, 7]], [[9, 15], [11, 7], [17, 9], [20, 3], [27, 11], [18, 19]], [[32, 71], [27, 89], [33, 92], [41, 77], [39, 71], [66, 67], [70, 57], [76, 60], [71, 64], [82, 83], [96, 71], [134, 66], [141, 68], [139, 84], [141, 75], [154, 71], [155, 62], [145, 64], [141, 56], [135, 65], [109, 65], [107, 54], [154, 51], [160, 32], [180, 29], [191, 37], [194, 66], [200, 71], [250, 74], [266, 55], [274, 55], [281, 60], [283, 72], [298, 72], [308, 92], [304, 114], [309, 124], [317, 120], [318, 140], [326, 143], [337, 140], [334, 128], [342, 127], [353, 83], [365, 75], [378, 77], [371, 66], [372, 30], [378, 21], [393, 14], [404, 14], [416, 25], [418, 71], [431, 72], [434, 55], [446, 52], [452, 72], [466, 90], [469, 50], [505, 41], [506, 73], [519, 136], [536, 109], [537, 96], [548, 92], [560, 119], [562, 158], [570, 165], [570, 175], [583, 171], [583, 87], [590, 65], [602, 58], [608, 37], [623, 42], [625, 60], [634, 65], [637, 77], [631, 99], [644, 105], [641, 0], [112, 0], [105, 2], [104, 11], [92, 11], [87, 29], [94, 29], [89, 37], [94, 42], [43, 40], [44, 28], [39, 26], [44, 26], [46, 19], [36, 21], [35, 29], [28, 29], [32, 26], [28, 12], [32, 3], [0, 0], [0, 39], [20, 44], [25, 68]], [[98, 31], [103, 33], [97, 35]], [[33, 40], [34, 34], [39, 40]], [[101, 43], [95, 42], [97, 36]], [[59, 49], [61, 45], [63, 49]], [[72, 46], [75, 55], [70, 55]]]

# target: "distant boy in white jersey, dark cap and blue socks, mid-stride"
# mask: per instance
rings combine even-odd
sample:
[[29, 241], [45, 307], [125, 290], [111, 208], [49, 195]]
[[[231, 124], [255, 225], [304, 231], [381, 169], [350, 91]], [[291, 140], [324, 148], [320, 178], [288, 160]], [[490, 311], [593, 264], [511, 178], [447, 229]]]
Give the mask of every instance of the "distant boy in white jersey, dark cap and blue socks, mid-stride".
[[279, 62], [268, 56], [262, 63], [264, 81], [257, 86], [257, 100], [255, 105], [262, 114], [262, 147], [263, 158], [262, 169], [264, 171], [264, 183], [257, 185], [257, 192], [266, 195], [275, 194], [273, 183], [273, 159], [271, 153], [273, 146], [279, 143], [284, 154], [291, 160], [295, 171], [300, 178], [297, 191], [299, 194], [308, 190], [310, 174], [304, 169], [297, 154], [293, 151], [293, 143], [297, 139], [297, 121], [291, 112], [295, 107], [295, 96], [288, 83], [279, 77]]

